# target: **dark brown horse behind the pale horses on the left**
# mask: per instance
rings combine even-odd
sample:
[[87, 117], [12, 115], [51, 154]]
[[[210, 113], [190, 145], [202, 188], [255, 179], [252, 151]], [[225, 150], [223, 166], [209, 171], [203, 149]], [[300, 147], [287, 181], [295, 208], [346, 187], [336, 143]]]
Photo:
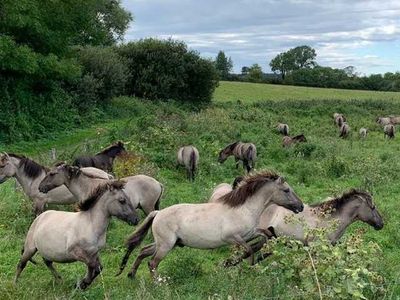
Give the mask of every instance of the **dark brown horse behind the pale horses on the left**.
[[72, 165], [83, 168], [83, 167], [95, 167], [106, 172], [113, 172], [114, 159], [117, 156], [126, 153], [124, 143], [117, 142], [103, 151], [95, 154], [94, 156], [80, 156], [77, 157]]

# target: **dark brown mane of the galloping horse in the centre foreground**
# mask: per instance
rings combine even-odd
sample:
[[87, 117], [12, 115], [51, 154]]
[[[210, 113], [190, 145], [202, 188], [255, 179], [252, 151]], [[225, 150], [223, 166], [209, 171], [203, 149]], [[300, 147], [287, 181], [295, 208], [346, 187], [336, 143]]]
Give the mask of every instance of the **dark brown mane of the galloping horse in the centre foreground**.
[[265, 171], [252, 176], [244, 177], [240, 184], [228, 194], [220, 198], [220, 202], [230, 207], [243, 205], [246, 200], [253, 196], [266, 182], [279, 178], [279, 175], [272, 171]]

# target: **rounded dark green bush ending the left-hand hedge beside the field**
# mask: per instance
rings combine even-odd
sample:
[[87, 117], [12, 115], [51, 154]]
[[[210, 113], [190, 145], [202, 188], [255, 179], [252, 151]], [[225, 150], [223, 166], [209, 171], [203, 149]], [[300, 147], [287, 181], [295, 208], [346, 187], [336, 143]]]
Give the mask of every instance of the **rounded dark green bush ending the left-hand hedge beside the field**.
[[131, 72], [127, 90], [148, 99], [210, 102], [218, 83], [212, 61], [183, 42], [144, 39], [118, 48]]

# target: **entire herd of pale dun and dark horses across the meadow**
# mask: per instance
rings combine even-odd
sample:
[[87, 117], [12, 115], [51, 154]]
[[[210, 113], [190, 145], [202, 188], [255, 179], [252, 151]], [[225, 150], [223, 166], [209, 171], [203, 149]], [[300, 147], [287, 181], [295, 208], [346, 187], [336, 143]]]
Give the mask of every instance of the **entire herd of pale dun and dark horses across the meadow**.
[[[400, 118], [377, 120], [385, 128], [390, 125], [394, 128], [393, 123], [397, 121], [400, 122]], [[345, 131], [349, 131], [348, 125], [345, 126], [346, 118], [335, 114], [334, 122], [339, 127], [340, 136], [345, 137]], [[304, 135], [289, 137], [287, 124], [279, 124], [277, 129], [284, 135], [284, 147], [306, 142]], [[363, 132], [363, 137], [366, 137], [367, 131]], [[394, 131], [392, 133], [394, 136]], [[154, 242], [140, 250], [129, 277], [134, 277], [141, 262], [152, 256], [149, 270], [156, 278], [159, 263], [176, 246], [214, 249], [229, 244], [239, 245], [244, 249], [243, 254], [227, 259], [224, 265], [233, 266], [246, 258], [254, 264], [265, 257], [259, 252], [268, 239], [289, 236], [304, 244], [313, 240], [304, 225], [311, 229], [327, 228], [327, 237], [332, 244], [353, 222], [365, 222], [376, 230], [384, 225], [372, 195], [366, 191], [350, 189], [339, 197], [318, 204], [303, 204], [278, 174], [253, 171], [256, 146], [242, 142], [222, 149], [218, 161], [223, 163], [229, 156], [234, 156], [236, 168], [242, 162], [247, 172], [245, 176], [235, 178], [233, 184], [217, 185], [206, 203], [176, 204], [160, 209], [164, 187], [156, 179], [134, 175], [116, 180], [110, 175], [114, 159], [124, 153], [124, 144], [118, 142], [94, 156], [78, 157], [72, 165], [58, 163], [51, 169], [22, 155], [1, 155], [0, 184], [14, 177], [33, 200], [36, 214], [26, 235], [15, 283], [28, 262], [36, 264], [32, 258], [38, 252], [56, 279], [61, 277], [53, 262], [80, 261], [86, 264], [87, 274], [77, 287], [87, 288], [102, 270], [99, 251], [105, 246], [111, 217], [137, 225], [137, 209], [141, 209], [146, 218], [128, 238], [126, 254], [117, 275], [123, 272], [131, 253], [143, 242], [150, 228]], [[199, 151], [194, 146], [178, 150], [177, 166], [187, 169], [189, 180], [195, 179], [198, 162]], [[78, 211], [44, 211], [46, 204], [77, 204]], [[294, 215], [303, 222], [286, 222], [289, 216]], [[332, 222], [336, 226], [330, 226]]]

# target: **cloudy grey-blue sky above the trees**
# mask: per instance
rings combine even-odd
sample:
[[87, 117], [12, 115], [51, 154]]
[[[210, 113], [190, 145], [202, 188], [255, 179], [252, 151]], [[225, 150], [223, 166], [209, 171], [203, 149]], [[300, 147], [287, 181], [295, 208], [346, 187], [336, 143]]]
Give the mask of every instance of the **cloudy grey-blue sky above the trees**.
[[134, 15], [125, 41], [185, 41], [204, 57], [219, 50], [234, 71], [299, 45], [323, 66], [361, 73], [400, 71], [400, 0], [123, 0]]

